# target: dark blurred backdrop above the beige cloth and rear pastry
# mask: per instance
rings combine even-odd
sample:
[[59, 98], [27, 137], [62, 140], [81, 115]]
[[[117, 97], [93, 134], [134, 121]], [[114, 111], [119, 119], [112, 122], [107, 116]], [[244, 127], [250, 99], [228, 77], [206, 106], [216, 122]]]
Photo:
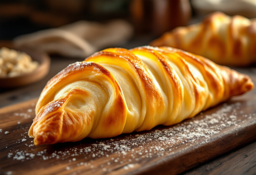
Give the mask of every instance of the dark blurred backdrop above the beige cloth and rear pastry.
[[[255, 0], [1, 0], [0, 39], [60, 27], [79, 20], [124, 19], [137, 35], [160, 36], [200, 21], [213, 11], [256, 17]], [[145, 43], [147, 44], [147, 43]]]

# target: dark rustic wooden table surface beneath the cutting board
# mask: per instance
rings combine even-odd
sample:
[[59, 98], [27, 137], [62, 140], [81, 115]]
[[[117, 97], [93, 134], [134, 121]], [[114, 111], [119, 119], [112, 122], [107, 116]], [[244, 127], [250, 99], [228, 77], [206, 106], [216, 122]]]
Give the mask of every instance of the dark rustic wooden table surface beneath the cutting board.
[[[150, 41], [151, 38], [147, 40]], [[143, 42], [140, 42], [141, 40], [133, 40], [124, 47], [133, 48], [139, 45], [145, 45], [147, 40], [145, 41], [144, 39]], [[52, 76], [68, 64], [82, 60], [77, 58], [51, 57], [50, 72], [44, 79], [21, 88], [0, 89], [0, 108], [38, 97]], [[242, 73], [256, 75], [255, 67], [235, 69]], [[165, 172], [159, 172], [159, 174], [165, 174]], [[202, 162], [197, 167], [187, 170], [182, 174], [256, 174], [256, 142], [254, 140], [209, 162]]]

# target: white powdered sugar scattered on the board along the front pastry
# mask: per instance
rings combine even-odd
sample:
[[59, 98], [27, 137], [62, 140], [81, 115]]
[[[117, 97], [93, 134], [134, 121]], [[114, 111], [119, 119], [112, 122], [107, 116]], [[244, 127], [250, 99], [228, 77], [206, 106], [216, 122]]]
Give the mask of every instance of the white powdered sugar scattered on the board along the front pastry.
[[[54, 109], [60, 107], [61, 104], [60, 101], [55, 101], [51, 106]], [[76, 171], [83, 167], [88, 169], [100, 168], [102, 172], [111, 172], [113, 166], [131, 171], [136, 167], [136, 164], [144, 159], [172, 156], [177, 153], [177, 150], [183, 151], [190, 146], [202, 145], [209, 142], [208, 139], [211, 136], [218, 134], [227, 127], [239, 127], [239, 123], [242, 123], [241, 118], [255, 116], [255, 114], [246, 115], [240, 111], [237, 112], [240, 106], [241, 103], [223, 104], [219, 110], [210, 115], [200, 113], [196, 118], [171, 127], [160, 126], [150, 131], [109, 139], [90, 140], [87, 138], [74, 143], [75, 146], [71, 146], [71, 148], [49, 149], [49, 151], [46, 149], [36, 151], [40, 146], [36, 147], [31, 143], [32, 139], [27, 137], [29, 127], [26, 127], [23, 128], [26, 132], [20, 135], [22, 138], [16, 143], [25, 144], [27, 149], [10, 150], [6, 157], [13, 161], [26, 161], [36, 157], [42, 161], [65, 161], [67, 163], [64, 167], [65, 171]], [[240, 120], [238, 120], [238, 115], [240, 115]], [[17, 124], [18, 128], [22, 127], [22, 123]], [[94, 164], [94, 161], [101, 158], [104, 158], [102, 164]], [[78, 171], [76, 172], [78, 173]]]

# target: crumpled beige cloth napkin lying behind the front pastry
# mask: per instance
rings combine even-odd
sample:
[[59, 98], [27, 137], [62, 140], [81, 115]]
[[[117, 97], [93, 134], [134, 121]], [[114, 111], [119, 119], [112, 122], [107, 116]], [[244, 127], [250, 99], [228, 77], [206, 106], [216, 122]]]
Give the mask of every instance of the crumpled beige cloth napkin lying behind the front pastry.
[[106, 24], [78, 21], [59, 28], [21, 35], [14, 39], [14, 44], [48, 54], [84, 58], [100, 49], [121, 44], [132, 34], [132, 26], [124, 20], [113, 20]]

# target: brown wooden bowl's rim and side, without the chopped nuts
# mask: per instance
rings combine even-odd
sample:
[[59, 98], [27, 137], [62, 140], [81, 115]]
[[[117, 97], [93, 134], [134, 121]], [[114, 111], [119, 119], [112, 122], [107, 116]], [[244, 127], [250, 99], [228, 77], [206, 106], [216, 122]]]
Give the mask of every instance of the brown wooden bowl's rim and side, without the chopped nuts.
[[14, 87], [28, 85], [41, 80], [48, 74], [51, 61], [49, 56], [46, 53], [29, 49], [29, 48], [16, 48], [16, 47], [12, 47], [11, 45], [7, 46], [7, 45], [0, 44], [0, 48], [2, 46], [27, 53], [28, 55], [31, 56], [31, 58], [34, 61], [39, 62], [39, 67], [32, 72], [22, 74], [20, 76], [1, 77], [0, 88], [14, 88]]

